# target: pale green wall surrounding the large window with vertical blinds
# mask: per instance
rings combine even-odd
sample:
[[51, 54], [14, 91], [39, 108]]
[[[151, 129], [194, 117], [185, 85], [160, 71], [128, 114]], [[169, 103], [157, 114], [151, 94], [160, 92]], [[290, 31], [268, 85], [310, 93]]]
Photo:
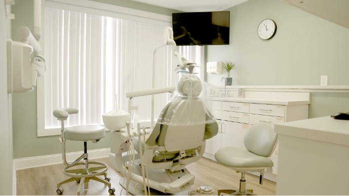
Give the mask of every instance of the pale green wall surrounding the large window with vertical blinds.
[[[130, 0], [95, 0], [110, 2], [110, 4], [139, 8], [144, 11], [151, 11], [170, 15], [172, 11], [166, 8], [145, 6]], [[27, 26], [33, 32], [33, 1], [16, 0], [12, 5], [12, 13], [15, 19], [12, 20], [12, 39], [18, 40], [16, 30], [18, 26]], [[61, 153], [61, 144], [58, 142], [60, 136], [37, 137], [36, 123], [36, 88], [26, 93], [13, 94], [12, 96], [12, 123], [13, 123], [13, 158], [24, 158], [43, 156]], [[68, 141], [67, 152], [83, 150], [82, 142]], [[109, 132], [98, 143], [88, 142], [88, 149], [100, 149], [110, 147]]]

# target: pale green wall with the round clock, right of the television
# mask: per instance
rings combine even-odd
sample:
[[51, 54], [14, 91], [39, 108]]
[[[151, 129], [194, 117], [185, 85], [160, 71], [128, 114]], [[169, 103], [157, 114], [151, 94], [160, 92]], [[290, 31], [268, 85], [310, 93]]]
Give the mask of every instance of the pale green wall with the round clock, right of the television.
[[[206, 62], [233, 61], [233, 85], [349, 85], [349, 29], [281, 0], [249, 0], [230, 9], [230, 45], [206, 46]], [[278, 29], [271, 40], [257, 35], [266, 18]], [[227, 74], [208, 75], [221, 86]], [[312, 93], [309, 117], [349, 112], [349, 94]]]

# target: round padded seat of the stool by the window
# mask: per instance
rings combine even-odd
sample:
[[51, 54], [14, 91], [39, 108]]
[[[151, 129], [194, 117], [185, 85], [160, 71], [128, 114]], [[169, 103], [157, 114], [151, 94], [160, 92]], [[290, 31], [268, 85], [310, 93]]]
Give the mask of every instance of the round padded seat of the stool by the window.
[[89, 141], [103, 138], [104, 127], [99, 125], [77, 125], [65, 129], [65, 139], [74, 141]]

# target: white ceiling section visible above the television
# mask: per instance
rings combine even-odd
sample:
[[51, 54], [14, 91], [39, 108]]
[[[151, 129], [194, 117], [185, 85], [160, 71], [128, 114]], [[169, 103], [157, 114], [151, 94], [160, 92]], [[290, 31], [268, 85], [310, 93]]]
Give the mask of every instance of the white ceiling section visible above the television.
[[133, 0], [183, 12], [222, 11], [247, 0]]

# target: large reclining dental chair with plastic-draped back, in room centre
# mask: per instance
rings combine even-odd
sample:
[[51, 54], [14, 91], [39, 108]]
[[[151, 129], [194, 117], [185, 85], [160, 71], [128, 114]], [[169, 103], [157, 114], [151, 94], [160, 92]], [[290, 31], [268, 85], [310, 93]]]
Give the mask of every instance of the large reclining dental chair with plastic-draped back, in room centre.
[[[207, 108], [205, 101], [199, 98], [202, 90], [200, 79], [193, 74], [184, 74], [175, 94], [161, 111], [161, 114], [145, 142], [132, 139], [134, 148], [143, 158], [143, 164], [134, 165], [132, 173], [125, 167], [121, 153], [126, 152], [126, 130], [111, 132], [111, 152], [115, 153], [118, 171], [130, 179], [128, 192], [143, 195], [146, 187], [155, 194], [188, 195], [194, 183], [194, 175], [186, 165], [199, 160], [205, 151], [205, 141], [218, 132], [218, 124]], [[139, 126], [140, 127], [140, 126]], [[130, 131], [132, 135], [132, 130]], [[136, 130], [137, 132], [137, 130]], [[141, 145], [141, 148], [139, 148]], [[122, 150], [121, 150], [122, 149]], [[148, 173], [142, 178], [142, 168]], [[120, 181], [125, 189], [125, 181]], [[146, 186], [144, 186], [146, 184]], [[159, 193], [161, 192], [161, 193]]]

